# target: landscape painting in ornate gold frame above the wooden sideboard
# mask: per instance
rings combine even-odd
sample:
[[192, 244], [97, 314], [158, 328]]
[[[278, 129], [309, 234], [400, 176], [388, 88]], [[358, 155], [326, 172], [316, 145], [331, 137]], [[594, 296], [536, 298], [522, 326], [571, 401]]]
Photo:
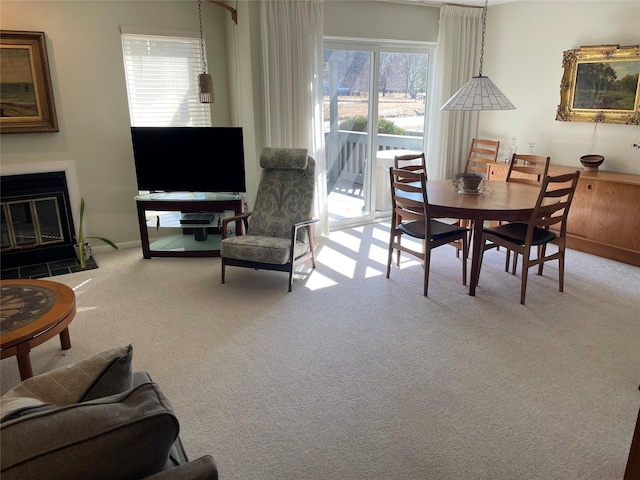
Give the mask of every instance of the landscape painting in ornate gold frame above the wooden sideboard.
[[640, 125], [640, 46], [566, 50], [556, 120]]

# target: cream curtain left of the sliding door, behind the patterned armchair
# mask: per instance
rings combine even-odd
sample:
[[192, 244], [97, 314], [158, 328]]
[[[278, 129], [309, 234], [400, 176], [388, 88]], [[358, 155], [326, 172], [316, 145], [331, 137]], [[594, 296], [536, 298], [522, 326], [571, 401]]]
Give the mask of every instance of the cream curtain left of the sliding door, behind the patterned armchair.
[[266, 142], [316, 160], [317, 235], [328, 235], [322, 105], [324, 0], [260, 2]]

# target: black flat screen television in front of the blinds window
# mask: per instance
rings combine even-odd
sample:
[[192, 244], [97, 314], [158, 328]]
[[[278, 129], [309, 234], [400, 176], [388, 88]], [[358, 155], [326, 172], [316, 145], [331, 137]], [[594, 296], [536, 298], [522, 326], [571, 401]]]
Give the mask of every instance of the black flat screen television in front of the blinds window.
[[138, 190], [246, 192], [241, 127], [131, 127]]

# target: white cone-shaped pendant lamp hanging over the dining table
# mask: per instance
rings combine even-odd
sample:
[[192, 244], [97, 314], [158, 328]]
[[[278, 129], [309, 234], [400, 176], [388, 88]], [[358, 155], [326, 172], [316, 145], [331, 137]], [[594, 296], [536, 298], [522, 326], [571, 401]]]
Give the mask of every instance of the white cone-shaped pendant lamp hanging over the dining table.
[[480, 50], [480, 71], [477, 77], [472, 77], [445, 103], [440, 110], [514, 110], [516, 107], [489, 80], [482, 76], [482, 57], [484, 56], [484, 32], [487, 27], [487, 7], [489, 0], [484, 2], [482, 11], [482, 48]]

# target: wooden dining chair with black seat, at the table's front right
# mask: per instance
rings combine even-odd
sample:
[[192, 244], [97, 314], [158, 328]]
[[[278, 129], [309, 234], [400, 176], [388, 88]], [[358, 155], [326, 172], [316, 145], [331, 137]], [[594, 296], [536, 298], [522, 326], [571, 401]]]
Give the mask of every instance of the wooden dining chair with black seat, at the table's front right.
[[[483, 248], [480, 257], [480, 269], [482, 269], [482, 257], [487, 242], [496, 246], [504, 246], [508, 250], [522, 255], [520, 303], [523, 305], [527, 292], [528, 271], [534, 265], [538, 265], [538, 275], [542, 275], [545, 262], [558, 260], [559, 290], [564, 291], [567, 217], [579, 177], [580, 171], [554, 177], [546, 175], [542, 180], [535, 208], [527, 222], [509, 222], [483, 229], [483, 246], [485, 248]], [[555, 228], [551, 230], [549, 227], [553, 225]], [[546, 246], [551, 242], [557, 244], [557, 251], [547, 255]], [[531, 258], [532, 247], [537, 249], [535, 258]]]

